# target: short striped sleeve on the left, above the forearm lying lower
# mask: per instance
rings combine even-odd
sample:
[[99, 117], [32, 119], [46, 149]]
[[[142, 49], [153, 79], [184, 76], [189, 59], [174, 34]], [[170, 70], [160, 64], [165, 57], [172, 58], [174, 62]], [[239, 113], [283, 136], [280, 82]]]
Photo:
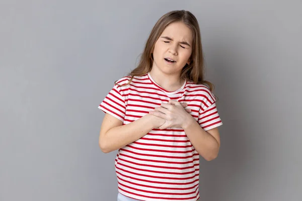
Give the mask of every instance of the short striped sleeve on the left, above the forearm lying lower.
[[125, 98], [117, 84], [113, 86], [102, 103], [99, 105], [98, 109], [124, 122], [126, 114]]

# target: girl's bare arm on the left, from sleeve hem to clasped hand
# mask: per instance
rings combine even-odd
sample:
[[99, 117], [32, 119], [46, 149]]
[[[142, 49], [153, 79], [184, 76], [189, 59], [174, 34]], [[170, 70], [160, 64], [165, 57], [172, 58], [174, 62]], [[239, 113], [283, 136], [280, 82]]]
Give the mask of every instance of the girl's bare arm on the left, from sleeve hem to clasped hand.
[[117, 118], [106, 114], [101, 126], [99, 146], [104, 153], [120, 149], [164, 123], [164, 119], [147, 114], [134, 122], [123, 125]]

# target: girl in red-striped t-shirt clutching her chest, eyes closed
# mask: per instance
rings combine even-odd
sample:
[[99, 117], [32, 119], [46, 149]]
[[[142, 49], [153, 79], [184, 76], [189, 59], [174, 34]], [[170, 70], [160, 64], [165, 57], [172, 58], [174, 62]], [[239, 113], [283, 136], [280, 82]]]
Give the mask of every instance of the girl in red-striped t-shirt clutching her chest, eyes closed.
[[100, 148], [118, 150], [118, 200], [198, 200], [199, 155], [217, 157], [222, 125], [203, 68], [196, 18], [169, 12], [154, 26], [138, 66], [98, 107], [106, 113]]

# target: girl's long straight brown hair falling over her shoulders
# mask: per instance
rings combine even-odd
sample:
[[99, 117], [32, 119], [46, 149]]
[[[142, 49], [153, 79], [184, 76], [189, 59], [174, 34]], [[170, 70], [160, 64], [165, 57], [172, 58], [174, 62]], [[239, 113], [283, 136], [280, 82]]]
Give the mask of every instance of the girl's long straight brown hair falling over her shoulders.
[[[129, 84], [134, 76], [142, 76], [147, 74], [153, 65], [153, 50], [155, 43], [165, 30], [165, 28], [174, 22], [183, 22], [193, 33], [193, 47], [190, 57], [190, 64], [186, 64], [181, 71], [180, 78], [192, 81], [196, 84], [207, 84], [210, 91], [214, 89], [214, 85], [204, 80], [204, 58], [201, 45], [201, 36], [199, 25], [195, 16], [189, 11], [171, 11], [162, 16], [153, 27], [146, 43], [144, 50], [140, 56], [138, 66], [133, 69], [128, 76], [131, 76]], [[116, 83], [116, 82], [115, 82]]]

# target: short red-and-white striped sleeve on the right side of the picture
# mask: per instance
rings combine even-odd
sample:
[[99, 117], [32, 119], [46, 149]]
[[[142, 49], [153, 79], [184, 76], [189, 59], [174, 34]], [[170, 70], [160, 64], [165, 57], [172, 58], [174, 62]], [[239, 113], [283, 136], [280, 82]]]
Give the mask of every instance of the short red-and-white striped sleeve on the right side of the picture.
[[198, 123], [205, 131], [222, 125], [215, 101], [213, 93], [206, 89], [198, 115]]

